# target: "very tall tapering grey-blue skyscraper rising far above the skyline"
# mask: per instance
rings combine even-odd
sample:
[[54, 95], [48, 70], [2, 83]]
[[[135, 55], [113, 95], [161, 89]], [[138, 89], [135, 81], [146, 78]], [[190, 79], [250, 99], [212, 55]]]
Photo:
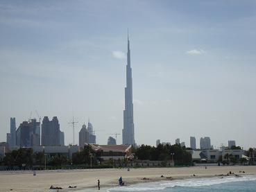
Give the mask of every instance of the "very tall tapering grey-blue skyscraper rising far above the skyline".
[[129, 35], [126, 64], [125, 110], [123, 110], [123, 144], [136, 145], [133, 123], [133, 77], [132, 68], [130, 67]]

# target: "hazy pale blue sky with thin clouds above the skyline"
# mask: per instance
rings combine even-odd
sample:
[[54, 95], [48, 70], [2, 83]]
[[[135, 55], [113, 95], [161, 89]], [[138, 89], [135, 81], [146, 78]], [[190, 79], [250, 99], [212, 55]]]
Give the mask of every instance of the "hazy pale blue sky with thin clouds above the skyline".
[[[0, 141], [72, 111], [105, 144], [123, 128], [130, 31], [135, 141], [256, 146], [256, 1], [0, 1]], [[117, 138], [117, 143], [121, 137]]]

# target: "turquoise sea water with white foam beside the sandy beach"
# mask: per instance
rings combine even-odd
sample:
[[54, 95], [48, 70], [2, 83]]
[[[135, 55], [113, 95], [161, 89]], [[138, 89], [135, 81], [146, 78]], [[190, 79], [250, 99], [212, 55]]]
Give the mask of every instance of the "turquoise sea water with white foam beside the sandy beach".
[[211, 177], [193, 178], [185, 180], [171, 180], [169, 182], [153, 182], [144, 184], [134, 184], [131, 186], [118, 186], [106, 189], [108, 192], [123, 191], [152, 191], [152, 192], [211, 192], [211, 191], [256, 191], [256, 175], [242, 177]]

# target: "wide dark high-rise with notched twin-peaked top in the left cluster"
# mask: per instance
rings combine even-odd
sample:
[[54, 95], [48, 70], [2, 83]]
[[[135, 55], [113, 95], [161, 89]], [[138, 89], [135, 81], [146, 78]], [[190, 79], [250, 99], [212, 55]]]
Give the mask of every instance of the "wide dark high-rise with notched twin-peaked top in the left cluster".
[[42, 146], [60, 146], [60, 124], [57, 116], [49, 121], [48, 116], [44, 116], [42, 121]]

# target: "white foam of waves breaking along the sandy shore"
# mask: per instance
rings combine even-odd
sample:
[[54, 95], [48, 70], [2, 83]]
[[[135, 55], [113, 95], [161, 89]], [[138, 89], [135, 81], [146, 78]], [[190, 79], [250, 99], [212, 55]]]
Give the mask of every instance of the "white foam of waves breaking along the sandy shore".
[[244, 181], [254, 181], [256, 180], [256, 175], [246, 175], [242, 177], [211, 177], [211, 178], [191, 178], [185, 180], [172, 180], [169, 182], [153, 182], [144, 184], [134, 184], [131, 186], [119, 186], [112, 189], [111, 191], [160, 191], [167, 188], [172, 188], [176, 186], [183, 187], [198, 187], [198, 186], [211, 186], [214, 184], [223, 184], [228, 182], [244, 182]]

